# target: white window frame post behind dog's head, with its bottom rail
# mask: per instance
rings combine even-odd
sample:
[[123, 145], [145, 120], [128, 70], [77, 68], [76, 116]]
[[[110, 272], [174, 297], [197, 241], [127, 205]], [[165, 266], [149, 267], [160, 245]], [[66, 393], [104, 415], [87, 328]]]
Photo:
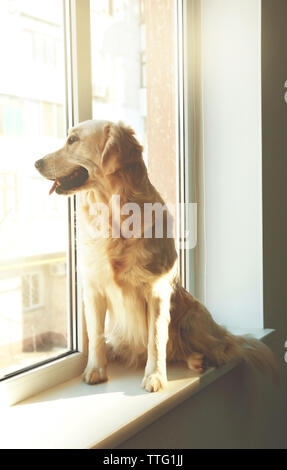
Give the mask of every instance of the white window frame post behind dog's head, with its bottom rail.
[[[92, 118], [92, 84], [90, 64], [90, 1], [63, 0], [66, 60], [66, 125], [67, 129], [78, 122]], [[1, 404], [13, 405], [50, 387], [82, 373], [86, 363], [82, 299], [77, 289], [76, 277], [76, 197], [68, 200], [70, 289], [67, 311], [71, 312], [69, 329], [73, 351], [64, 357], [0, 382]]]

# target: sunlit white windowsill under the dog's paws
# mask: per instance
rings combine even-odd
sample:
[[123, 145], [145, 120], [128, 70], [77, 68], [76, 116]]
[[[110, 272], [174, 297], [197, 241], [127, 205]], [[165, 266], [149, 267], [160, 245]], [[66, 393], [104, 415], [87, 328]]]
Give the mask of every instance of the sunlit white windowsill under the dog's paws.
[[[262, 339], [270, 329], [236, 330]], [[141, 388], [143, 370], [109, 366], [107, 383], [87, 385], [80, 377], [29, 400], [1, 409], [3, 449], [113, 448], [176, 405], [236, 367], [231, 361], [200, 378], [186, 365], [168, 367], [168, 386], [157, 393]]]

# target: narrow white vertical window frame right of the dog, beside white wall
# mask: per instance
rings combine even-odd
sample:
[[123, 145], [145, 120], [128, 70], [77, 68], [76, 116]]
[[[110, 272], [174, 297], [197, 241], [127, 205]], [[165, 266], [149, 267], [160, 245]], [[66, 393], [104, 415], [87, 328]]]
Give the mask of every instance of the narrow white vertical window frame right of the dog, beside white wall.
[[[199, 147], [198, 84], [199, 76], [196, 62], [198, 50], [198, 9], [197, 0], [177, 0], [178, 29], [178, 179], [179, 202], [197, 202], [196, 154]], [[186, 208], [186, 204], [181, 204]], [[184, 238], [186, 227], [190, 227], [188, 213], [179, 214], [178, 232]], [[200, 227], [197, 227], [200, 229]], [[197, 234], [198, 238], [198, 234]], [[182, 249], [179, 254], [181, 282], [184, 287], [199, 296], [195, 282], [198, 247]]]

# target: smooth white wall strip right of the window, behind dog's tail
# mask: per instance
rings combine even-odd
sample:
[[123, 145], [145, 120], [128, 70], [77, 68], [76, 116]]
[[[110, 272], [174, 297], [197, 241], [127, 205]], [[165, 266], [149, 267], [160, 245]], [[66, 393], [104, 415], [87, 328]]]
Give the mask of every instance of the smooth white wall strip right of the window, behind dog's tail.
[[227, 327], [262, 327], [260, 0], [202, 0], [201, 42], [200, 297]]

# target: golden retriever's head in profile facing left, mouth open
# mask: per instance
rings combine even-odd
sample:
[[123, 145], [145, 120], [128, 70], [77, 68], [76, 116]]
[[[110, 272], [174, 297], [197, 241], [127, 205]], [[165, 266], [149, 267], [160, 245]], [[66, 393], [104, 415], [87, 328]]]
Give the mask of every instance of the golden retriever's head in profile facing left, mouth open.
[[70, 129], [65, 145], [35, 162], [53, 181], [50, 194], [75, 194], [103, 183], [128, 165], [142, 160], [134, 131], [122, 123], [85, 121]]

